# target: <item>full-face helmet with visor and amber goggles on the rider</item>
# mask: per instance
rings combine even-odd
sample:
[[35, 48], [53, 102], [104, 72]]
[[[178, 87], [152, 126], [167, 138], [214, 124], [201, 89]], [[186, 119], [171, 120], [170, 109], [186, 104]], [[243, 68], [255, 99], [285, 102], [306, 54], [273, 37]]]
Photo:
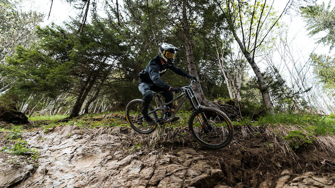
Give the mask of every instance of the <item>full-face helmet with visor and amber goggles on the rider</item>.
[[177, 51], [180, 51], [180, 49], [176, 46], [168, 43], [162, 43], [162, 45], [159, 46], [158, 56], [164, 63], [172, 66], [175, 63]]

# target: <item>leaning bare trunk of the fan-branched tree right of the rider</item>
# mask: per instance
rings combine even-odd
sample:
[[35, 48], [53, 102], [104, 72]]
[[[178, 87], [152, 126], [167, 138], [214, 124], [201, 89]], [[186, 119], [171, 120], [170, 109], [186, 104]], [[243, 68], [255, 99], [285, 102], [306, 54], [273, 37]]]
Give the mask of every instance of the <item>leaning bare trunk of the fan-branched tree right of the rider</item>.
[[249, 64], [251, 65], [252, 69], [254, 70], [254, 72], [256, 74], [258, 85], [259, 85], [259, 88], [261, 90], [263, 101], [264, 101], [264, 104], [265, 104], [266, 112], [268, 114], [274, 114], [273, 103], [272, 103], [272, 100], [270, 98], [270, 93], [269, 93], [269, 90], [268, 90], [268, 88], [265, 84], [264, 77], [263, 77], [261, 71], [259, 70], [258, 66], [256, 65], [254, 59], [250, 56], [250, 53], [244, 48], [243, 43], [241, 42], [241, 40], [237, 36], [235, 30], [231, 29], [231, 31], [234, 35], [235, 40], [240, 45], [240, 49], [241, 49], [242, 53], [247, 58], [247, 61], [249, 62]]

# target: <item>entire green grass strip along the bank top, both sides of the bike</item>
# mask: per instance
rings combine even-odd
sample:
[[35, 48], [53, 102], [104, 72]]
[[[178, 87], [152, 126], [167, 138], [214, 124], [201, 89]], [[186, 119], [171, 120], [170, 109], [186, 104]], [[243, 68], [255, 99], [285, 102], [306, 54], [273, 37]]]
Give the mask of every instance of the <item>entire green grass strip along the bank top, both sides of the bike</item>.
[[[173, 127], [185, 127], [188, 125], [188, 119], [191, 116], [191, 111], [178, 111], [177, 115], [181, 116], [181, 119], [172, 124], [165, 126]], [[29, 120], [42, 121], [50, 120], [51, 123], [47, 125], [41, 125], [45, 131], [56, 127], [56, 126], [67, 126], [74, 125], [84, 128], [100, 128], [100, 127], [114, 127], [124, 126], [127, 127], [128, 122], [125, 118], [124, 111], [106, 111], [96, 114], [85, 114], [74, 118], [68, 122], [56, 122], [59, 119], [63, 119], [67, 116], [55, 115], [55, 116], [36, 116], [31, 117]], [[315, 126], [313, 131], [316, 135], [334, 134], [335, 135], [335, 115], [321, 116], [317, 114], [292, 114], [292, 113], [278, 113], [276, 115], [265, 115], [260, 117], [257, 121], [253, 121], [250, 117], [244, 117], [241, 120], [233, 122], [233, 125], [254, 125], [254, 126], [265, 126], [265, 125], [286, 124], [286, 125], [297, 125], [302, 128]], [[14, 136], [15, 137], [15, 136]]]

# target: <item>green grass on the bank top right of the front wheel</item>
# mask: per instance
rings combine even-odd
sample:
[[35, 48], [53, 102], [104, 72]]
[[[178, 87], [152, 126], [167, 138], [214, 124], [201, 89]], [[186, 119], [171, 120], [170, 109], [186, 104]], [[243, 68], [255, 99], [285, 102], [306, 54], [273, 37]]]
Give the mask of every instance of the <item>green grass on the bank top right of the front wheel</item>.
[[315, 126], [314, 133], [317, 135], [333, 134], [335, 135], [335, 115], [321, 116], [318, 114], [285, 114], [279, 113], [275, 115], [266, 115], [260, 117], [258, 121], [252, 121], [250, 117], [245, 117], [243, 120], [236, 121], [234, 125], [297, 125], [300, 127]]

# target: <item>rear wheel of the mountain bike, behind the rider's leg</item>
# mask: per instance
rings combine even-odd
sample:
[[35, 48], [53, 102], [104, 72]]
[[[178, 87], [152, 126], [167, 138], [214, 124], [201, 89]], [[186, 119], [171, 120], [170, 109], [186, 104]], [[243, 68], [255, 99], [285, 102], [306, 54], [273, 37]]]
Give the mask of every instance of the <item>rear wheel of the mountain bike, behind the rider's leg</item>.
[[[154, 110], [154, 108], [150, 105], [149, 110]], [[131, 128], [133, 128], [136, 132], [142, 134], [150, 134], [156, 129], [156, 125], [148, 125], [145, 121], [143, 121], [143, 115], [141, 112], [142, 99], [134, 99], [130, 101], [126, 107], [127, 121], [130, 124]], [[148, 115], [152, 119], [157, 118], [157, 114], [155, 112]]]

